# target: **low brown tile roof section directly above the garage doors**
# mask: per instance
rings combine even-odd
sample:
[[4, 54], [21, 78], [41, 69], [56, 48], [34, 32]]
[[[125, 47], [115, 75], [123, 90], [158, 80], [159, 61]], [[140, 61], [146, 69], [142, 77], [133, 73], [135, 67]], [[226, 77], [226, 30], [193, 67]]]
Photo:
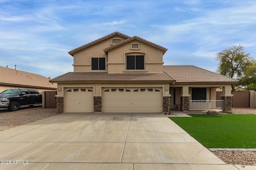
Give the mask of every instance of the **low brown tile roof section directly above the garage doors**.
[[60, 81], [168, 81], [175, 80], [164, 73], [116, 73], [109, 74], [108, 72], [68, 72], [58, 76], [50, 82]]

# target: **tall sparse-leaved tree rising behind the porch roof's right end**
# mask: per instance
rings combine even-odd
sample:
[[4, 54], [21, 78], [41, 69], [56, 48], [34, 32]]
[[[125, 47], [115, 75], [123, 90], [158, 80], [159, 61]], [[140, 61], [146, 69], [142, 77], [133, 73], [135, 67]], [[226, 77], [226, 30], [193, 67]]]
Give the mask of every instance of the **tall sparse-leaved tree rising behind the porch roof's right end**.
[[[218, 73], [236, 79], [242, 78], [247, 67], [254, 62], [254, 59], [249, 53], [244, 52], [244, 47], [240, 44], [217, 53], [215, 60], [219, 63]], [[232, 85], [232, 90], [235, 90], [234, 85]]]

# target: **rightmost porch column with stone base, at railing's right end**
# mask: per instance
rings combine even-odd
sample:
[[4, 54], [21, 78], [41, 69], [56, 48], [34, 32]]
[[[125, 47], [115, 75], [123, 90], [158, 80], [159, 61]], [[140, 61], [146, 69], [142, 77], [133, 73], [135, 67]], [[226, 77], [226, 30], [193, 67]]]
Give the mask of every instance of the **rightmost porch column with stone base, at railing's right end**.
[[233, 94], [231, 85], [222, 87], [221, 100], [224, 100], [224, 110], [232, 110]]

